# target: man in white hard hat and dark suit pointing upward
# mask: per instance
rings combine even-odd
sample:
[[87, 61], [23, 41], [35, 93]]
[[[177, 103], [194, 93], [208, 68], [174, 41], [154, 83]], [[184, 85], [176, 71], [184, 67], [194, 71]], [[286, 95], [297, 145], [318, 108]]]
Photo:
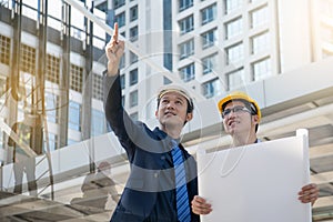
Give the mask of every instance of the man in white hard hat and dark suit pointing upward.
[[[160, 127], [150, 130], [143, 122], [132, 121], [121, 105], [119, 62], [124, 42], [118, 40], [118, 24], [105, 47], [108, 71], [104, 77], [104, 111], [108, 123], [124, 148], [131, 171], [111, 221], [195, 222], [191, 200], [198, 194], [196, 163], [180, 143], [184, 124], [192, 120], [193, 102], [189, 93], [174, 85], [158, 94], [155, 117]], [[173, 154], [181, 153], [176, 157]], [[179, 152], [181, 151], [181, 152]], [[181, 163], [179, 163], [181, 160]], [[184, 199], [179, 199], [176, 169], [184, 167]], [[179, 200], [183, 201], [180, 204]]]

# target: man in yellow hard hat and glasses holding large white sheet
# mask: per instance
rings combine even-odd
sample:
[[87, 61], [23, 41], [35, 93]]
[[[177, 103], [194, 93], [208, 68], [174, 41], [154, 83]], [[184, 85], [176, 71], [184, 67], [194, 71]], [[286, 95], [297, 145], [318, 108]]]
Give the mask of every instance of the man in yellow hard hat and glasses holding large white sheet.
[[[261, 120], [261, 110], [255, 100], [244, 92], [235, 91], [219, 101], [218, 108], [223, 119], [223, 127], [232, 137], [232, 147], [260, 142], [256, 138]], [[304, 185], [299, 192], [302, 203], [314, 203], [319, 196], [316, 184]], [[192, 211], [196, 214], [209, 214], [212, 205], [205, 199], [195, 195], [192, 200]]]

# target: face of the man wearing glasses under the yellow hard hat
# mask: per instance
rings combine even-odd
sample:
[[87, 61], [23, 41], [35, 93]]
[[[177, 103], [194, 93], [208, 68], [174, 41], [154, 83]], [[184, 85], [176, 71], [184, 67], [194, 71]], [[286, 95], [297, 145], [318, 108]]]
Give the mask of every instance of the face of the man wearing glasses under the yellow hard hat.
[[225, 105], [223, 111], [225, 110], [231, 110], [223, 119], [224, 130], [228, 134], [249, 134], [253, 130], [255, 132], [258, 115], [251, 115], [251, 111], [243, 102], [232, 101]]

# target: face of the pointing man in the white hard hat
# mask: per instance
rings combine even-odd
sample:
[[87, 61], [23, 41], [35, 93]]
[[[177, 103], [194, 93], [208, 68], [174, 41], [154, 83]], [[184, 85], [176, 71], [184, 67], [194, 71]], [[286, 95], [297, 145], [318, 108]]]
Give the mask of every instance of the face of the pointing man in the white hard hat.
[[186, 111], [188, 100], [178, 92], [168, 92], [161, 98], [155, 115], [163, 128], [182, 128], [185, 121], [192, 119], [192, 113]]

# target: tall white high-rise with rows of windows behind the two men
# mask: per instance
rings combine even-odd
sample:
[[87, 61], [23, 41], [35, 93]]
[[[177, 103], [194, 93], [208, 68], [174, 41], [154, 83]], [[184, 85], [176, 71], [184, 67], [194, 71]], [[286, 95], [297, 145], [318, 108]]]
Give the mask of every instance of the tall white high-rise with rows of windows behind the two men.
[[[138, 92], [135, 105], [133, 78], [144, 84], [159, 72], [142, 62], [147, 58], [213, 98], [332, 54], [332, 2], [324, 0], [120, 0], [95, 1], [95, 8], [111, 14], [108, 21], [117, 21], [120, 33], [142, 53], [138, 62], [127, 49], [121, 63], [124, 104], [134, 117], [150, 118], [135, 107], [155, 91]], [[165, 79], [154, 81], [160, 85]]]

